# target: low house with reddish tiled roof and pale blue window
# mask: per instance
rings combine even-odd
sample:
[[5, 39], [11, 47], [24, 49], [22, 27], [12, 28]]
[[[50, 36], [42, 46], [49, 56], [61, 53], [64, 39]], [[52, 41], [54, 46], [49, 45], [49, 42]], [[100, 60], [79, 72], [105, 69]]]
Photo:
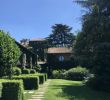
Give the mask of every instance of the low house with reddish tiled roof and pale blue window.
[[48, 48], [47, 62], [66, 62], [71, 60], [72, 48], [53, 47]]

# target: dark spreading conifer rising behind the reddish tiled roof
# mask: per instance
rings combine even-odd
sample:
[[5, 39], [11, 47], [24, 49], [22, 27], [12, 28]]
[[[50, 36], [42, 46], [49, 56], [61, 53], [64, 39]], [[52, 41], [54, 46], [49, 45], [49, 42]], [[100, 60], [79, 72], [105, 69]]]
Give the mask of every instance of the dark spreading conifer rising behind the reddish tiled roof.
[[48, 37], [50, 46], [71, 47], [75, 39], [71, 30], [71, 27], [63, 24], [52, 26], [52, 34]]

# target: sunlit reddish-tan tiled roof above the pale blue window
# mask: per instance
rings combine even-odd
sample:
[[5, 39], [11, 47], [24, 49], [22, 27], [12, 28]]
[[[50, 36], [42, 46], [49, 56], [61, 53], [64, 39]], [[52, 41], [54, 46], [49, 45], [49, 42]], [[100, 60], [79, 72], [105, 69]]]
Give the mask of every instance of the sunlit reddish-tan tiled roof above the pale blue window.
[[59, 48], [48, 48], [48, 53], [72, 53], [72, 48], [59, 47]]

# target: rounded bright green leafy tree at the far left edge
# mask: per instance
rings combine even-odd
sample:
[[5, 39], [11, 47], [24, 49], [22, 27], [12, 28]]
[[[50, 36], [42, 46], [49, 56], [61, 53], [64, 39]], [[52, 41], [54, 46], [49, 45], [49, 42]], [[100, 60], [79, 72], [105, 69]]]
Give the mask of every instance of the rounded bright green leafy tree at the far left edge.
[[20, 50], [15, 40], [0, 30], [0, 76], [12, 75], [12, 67], [16, 65], [19, 56]]

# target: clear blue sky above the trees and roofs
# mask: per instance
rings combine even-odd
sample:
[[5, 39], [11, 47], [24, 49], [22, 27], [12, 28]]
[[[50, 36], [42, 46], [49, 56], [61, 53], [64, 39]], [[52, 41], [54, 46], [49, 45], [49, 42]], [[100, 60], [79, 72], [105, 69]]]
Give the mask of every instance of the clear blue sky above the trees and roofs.
[[73, 0], [0, 0], [0, 29], [17, 41], [44, 38], [54, 24], [81, 29], [82, 8]]

